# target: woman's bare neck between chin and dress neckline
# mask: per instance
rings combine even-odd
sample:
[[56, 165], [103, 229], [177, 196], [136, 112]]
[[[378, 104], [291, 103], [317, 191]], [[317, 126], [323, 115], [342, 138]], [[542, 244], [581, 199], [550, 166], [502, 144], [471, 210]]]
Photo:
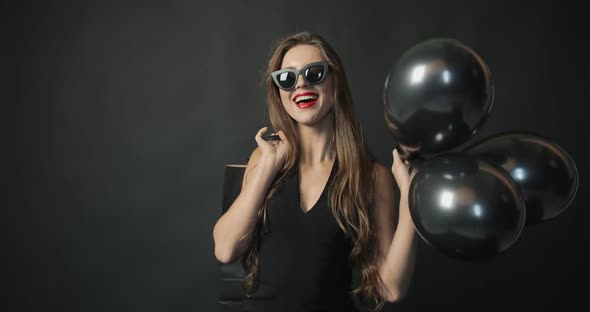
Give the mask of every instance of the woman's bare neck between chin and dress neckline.
[[336, 158], [336, 147], [332, 142], [333, 121], [330, 116], [314, 126], [298, 125], [301, 140], [301, 164], [318, 165], [333, 162]]

